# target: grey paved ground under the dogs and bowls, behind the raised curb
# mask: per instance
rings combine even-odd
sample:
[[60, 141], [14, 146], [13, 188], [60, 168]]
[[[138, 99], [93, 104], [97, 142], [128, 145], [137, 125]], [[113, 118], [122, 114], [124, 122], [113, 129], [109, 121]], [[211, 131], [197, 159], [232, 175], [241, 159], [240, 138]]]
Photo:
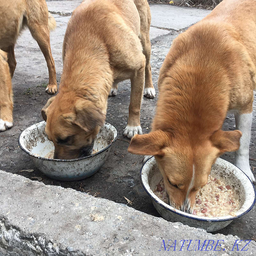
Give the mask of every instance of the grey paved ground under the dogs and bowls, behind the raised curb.
[[[71, 12], [80, 2], [81, 0], [47, 1], [49, 11], [54, 14], [57, 21], [57, 29], [51, 32], [50, 40], [58, 83], [62, 73], [63, 36]], [[151, 5], [151, 12], [152, 79], [158, 92], [157, 79], [159, 69], [169, 51], [172, 40], [188, 26], [206, 16], [210, 11], [170, 5]], [[118, 140], [112, 146], [109, 159], [99, 172], [86, 180], [76, 182], [55, 181], [45, 177], [39, 170], [36, 170], [29, 157], [18, 148], [20, 132], [26, 127], [42, 120], [41, 108], [50, 97], [45, 93], [46, 83], [48, 82], [47, 65], [42, 52], [28, 30], [24, 31], [22, 36], [19, 37], [15, 54], [17, 67], [12, 80], [15, 99], [14, 127], [0, 134], [0, 169], [31, 179], [39, 177], [39, 179], [42, 178], [42, 182], [46, 185], [59, 185], [92, 195], [97, 194], [97, 197], [109, 199], [117, 203], [126, 204], [125, 196], [130, 200], [134, 199], [134, 204], [131, 206], [134, 209], [159, 216], [140, 182], [139, 170], [142, 166], [143, 157], [134, 156], [127, 152], [129, 142], [122, 135], [128, 118], [130, 81], [120, 83], [117, 96], [109, 98], [106, 121], [113, 124], [119, 133]], [[141, 106], [141, 127], [143, 133], [147, 133], [150, 130], [157, 96], [156, 99], [143, 99]], [[250, 145], [251, 159], [256, 159], [255, 110], [256, 105], [254, 102], [254, 121]], [[228, 116], [224, 129], [233, 130], [234, 125], [234, 117]], [[229, 162], [234, 162], [233, 153], [225, 154], [222, 158]], [[255, 160], [251, 160], [250, 164], [252, 167], [256, 166]], [[25, 169], [34, 169], [34, 172], [21, 172], [21, 170]], [[248, 214], [233, 221], [232, 224], [218, 233], [238, 235], [241, 239], [256, 239], [256, 208], [254, 207]]]

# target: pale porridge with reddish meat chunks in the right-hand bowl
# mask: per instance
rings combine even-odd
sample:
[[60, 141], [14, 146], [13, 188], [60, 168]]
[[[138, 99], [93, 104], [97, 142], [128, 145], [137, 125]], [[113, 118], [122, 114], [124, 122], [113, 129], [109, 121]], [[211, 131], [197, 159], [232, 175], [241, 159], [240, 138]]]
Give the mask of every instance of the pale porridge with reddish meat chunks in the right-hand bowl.
[[[164, 181], [160, 180], [154, 194], [164, 203], [169, 204], [169, 196], [164, 189]], [[209, 175], [207, 184], [196, 194], [193, 215], [203, 217], [236, 216], [239, 210], [238, 195], [229, 185]]]

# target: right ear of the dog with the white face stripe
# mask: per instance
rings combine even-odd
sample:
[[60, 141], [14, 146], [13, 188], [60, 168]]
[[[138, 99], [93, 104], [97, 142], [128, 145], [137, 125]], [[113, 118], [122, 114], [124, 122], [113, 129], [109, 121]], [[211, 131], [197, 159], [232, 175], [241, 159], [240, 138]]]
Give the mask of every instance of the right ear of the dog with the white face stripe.
[[222, 153], [237, 151], [240, 147], [241, 131], [215, 131], [211, 136], [212, 144]]

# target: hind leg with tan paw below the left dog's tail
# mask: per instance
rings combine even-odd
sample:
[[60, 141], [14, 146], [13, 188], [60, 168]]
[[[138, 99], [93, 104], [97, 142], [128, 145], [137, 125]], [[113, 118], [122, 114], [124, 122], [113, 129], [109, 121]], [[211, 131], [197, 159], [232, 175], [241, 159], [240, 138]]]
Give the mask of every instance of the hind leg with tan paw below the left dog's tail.
[[42, 53], [44, 54], [48, 71], [49, 71], [49, 84], [45, 91], [49, 94], [55, 94], [58, 91], [56, 81], [55, 63], [52, 57], [50, 48], [50, 31], [48, 26], [48, 9], [45, 2], [42, 2], [39, 10], [31, 8], [30, 15], [26, 16], [28, 28], [32, 34], [32, 37], [37, 41]]

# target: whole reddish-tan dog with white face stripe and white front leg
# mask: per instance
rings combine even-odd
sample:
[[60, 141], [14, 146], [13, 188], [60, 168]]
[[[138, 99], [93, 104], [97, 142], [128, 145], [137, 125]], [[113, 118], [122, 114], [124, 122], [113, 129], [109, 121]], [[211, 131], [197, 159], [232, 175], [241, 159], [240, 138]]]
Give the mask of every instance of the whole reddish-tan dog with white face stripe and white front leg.
[[[193, 212], [197, 191], [224, 152], [236, 151], [235, 165], [255, 181], [249, 165], [255, 64], [255, 0], [224, 0], [173, 42], [160, 70], [152, 132], [134, 136], [128, 151], [155, 156], [177, 209]], [[240, 131], [221, 130], [228, 111]]]

